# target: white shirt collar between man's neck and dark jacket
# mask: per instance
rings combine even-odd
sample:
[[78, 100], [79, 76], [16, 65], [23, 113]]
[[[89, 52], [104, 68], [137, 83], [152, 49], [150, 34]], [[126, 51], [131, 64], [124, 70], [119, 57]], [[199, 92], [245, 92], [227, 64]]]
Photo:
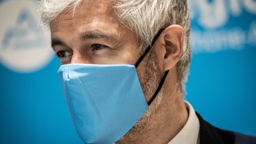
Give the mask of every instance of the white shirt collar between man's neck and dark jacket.
[[196, 116], [196, 112], [190, 103], [185, 101], [188, 113], [188, 120], [181, 131], [169, 142], [168, 144], [199, 144], [199, 119]]

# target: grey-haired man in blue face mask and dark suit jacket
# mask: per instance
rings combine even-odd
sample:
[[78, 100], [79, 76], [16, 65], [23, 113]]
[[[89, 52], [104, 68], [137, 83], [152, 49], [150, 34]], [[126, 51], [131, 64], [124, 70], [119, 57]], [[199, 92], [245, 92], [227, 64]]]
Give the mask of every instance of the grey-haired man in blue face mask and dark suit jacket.
[[183, 100], [185, 0], [45, 0], [41, 17], [85, 143], [256, 143], [211, 126]]

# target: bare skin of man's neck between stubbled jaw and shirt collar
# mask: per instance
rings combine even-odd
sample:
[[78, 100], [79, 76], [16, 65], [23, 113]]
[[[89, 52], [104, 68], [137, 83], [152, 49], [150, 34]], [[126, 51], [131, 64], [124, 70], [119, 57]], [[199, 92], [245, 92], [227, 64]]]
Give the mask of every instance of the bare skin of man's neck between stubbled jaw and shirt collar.
[[[168, 78], [167, 78], [168, 79]], [[158, 110], [143, 129], [140, 129], [130, 139], [121, 139], [121, 143], [168, 143], [183, 128], [188, 112], [185, 108], [183, 95], [175, 91], [177, 85], [164, 84], [164, 94]], [[170, 91], [171, 90], [171, 91]], [[152, 103], [149, 108], [153, 107]]]

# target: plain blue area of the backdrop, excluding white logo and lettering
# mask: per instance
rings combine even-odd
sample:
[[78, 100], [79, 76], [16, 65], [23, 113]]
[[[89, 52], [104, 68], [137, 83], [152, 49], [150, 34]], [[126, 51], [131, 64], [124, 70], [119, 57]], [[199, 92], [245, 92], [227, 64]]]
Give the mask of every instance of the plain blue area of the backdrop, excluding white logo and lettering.
[[[205, 28], [197, 21], [200, 16], [194, 15], [192, 36], [196, 31], [232, 27], [248, 33], [255, 16], [243, 10], [241, 15], [229, 17], [228, 23]], [[191, 41], [196, 46], [193, 38]], [[202, 45], [192, 47], [185, 99], [213, 125], [256, 136], [255, 43], [245, 43], [236, 50], [216, 49], [206, 52]], [[0, 143], [82, 143], [68, 113], [56, 75], [58, 68], [56, 57], [30, 73], [9, 70], [0, 61]]]

